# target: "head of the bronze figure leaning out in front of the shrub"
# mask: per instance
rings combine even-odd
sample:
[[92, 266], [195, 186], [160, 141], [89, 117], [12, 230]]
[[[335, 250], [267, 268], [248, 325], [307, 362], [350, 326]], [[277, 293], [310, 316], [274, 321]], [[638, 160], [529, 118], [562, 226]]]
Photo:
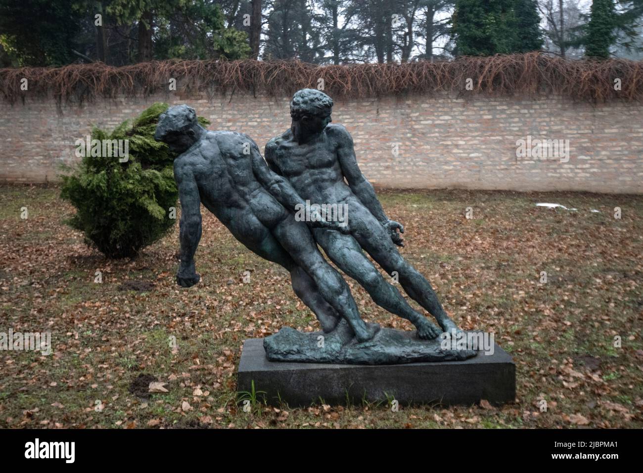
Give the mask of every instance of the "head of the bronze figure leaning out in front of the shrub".
[[199, 140], [202, 130], [194, 109], [177, 105], [161, 113], [154, 139], [167, 144], [175, 153], [185, 153]]

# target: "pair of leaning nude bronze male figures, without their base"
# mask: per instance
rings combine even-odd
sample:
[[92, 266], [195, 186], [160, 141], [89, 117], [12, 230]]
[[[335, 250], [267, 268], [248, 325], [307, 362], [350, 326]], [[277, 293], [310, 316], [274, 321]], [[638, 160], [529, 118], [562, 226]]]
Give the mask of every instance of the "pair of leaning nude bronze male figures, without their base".
[[[343, 318], [363, 342], [379, 326], [361, 320], [348, 285], [325, 261], [317, 244], [379, 306], [410, 320], [422, 339], [457, 329], [428, 281], [397, 252], [395, 245], [403, 246], [397, 230], [404, 228], [386, 218], [372, 186], [359, 171], [350, 134], [330, 124], [331, 110], [331, 98], [320, 91], [296, 93], [291, 129], [266, 145], [266, 161], [248, 136], [207, 131], [190, 107], [172, 107], [161, 115], [155, 138], [181, 153], [174, 163], [182, 209], [177, 282], [189, 287], [199, 281], [194, 253], [201, 237], [203, 202], [249, 250], [290, 272], [294, 292], [325, 332]], [[316, 219], [308, 223], [309, 229], [293, 215], [305, 200], [347, 205], [348, 226]], [[406, 293], [438, 320], [441, 329], [406, 302], [362, 249], [388, 274], [397, 272]]]

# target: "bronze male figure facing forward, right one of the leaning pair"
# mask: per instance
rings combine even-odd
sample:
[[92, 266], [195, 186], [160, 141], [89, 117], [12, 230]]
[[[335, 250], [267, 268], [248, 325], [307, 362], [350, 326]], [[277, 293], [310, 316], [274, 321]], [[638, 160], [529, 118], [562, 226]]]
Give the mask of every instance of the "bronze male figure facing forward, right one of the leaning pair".
[[404, 232], [404, 227], [386, 217], [372, 185], [359, 171], [348, 131], [330, 124], [332, 98], [316, 89], [303, 89], [294, 94], [290, 107], [291, 128], [266, 145], [269, 167], [287, 178], [303, 199], [317, 205], [348, 206], [350, 234], [314, 228], [317, 243], [376, 304], [410, 320], [421, 338], [435, 338], [440, 330], [385, 281], [362, 249], [388, 274], [397, 272], [404, 291], [437, 319], [443, 331], [457, 330], [431, 284], [395, 248], [403, 246], [397, 229]]

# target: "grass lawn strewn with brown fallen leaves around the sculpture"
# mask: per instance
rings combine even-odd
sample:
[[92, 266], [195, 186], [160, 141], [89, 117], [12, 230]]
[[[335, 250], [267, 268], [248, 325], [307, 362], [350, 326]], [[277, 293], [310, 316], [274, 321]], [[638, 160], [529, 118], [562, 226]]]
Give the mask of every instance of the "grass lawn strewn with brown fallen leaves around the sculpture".
[[[406, 227], [402, 254], [448, 313], [494, 332], [514, 357], [516, 402], [398, 412], [386, 401], [257, 403], [246, 413], [236, 393], [243, 340], [318, 329], [287, 272], [204, 211], [201, 283], [180, 288], [178, 225], [137, 259], [109, 261], [64, 224], [74, 210], [58, 194], [0, 185], [0, 332], [51, 332], [52, 344], [50, 356], [0, 351], [0, 427], [643, 427], [643, 196], [379, 192]], [[543, 201], [578, 210], [535, 207]], [[412, 329], [349, 284], [366, 320]], [[150, 379], [140, 375], [167, 392], [138, 395]]]

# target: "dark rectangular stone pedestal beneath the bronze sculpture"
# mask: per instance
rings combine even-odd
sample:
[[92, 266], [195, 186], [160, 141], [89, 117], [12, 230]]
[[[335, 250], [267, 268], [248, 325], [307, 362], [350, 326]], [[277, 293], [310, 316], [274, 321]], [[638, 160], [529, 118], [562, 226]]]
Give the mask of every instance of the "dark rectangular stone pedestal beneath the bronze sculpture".
[[270, 404], [279, 398], [291, 407], [312, 402], [336, 405], [394, 398], [400, 404], [471, 405], [485, 399], [500, 405], [516, 398], [516, 365], [497, 344], [493, 355], [478, 353], [461, 361], [397, 365], [271, 362], [263, 339], [244, 342], [239, 391], [265, 391]]

